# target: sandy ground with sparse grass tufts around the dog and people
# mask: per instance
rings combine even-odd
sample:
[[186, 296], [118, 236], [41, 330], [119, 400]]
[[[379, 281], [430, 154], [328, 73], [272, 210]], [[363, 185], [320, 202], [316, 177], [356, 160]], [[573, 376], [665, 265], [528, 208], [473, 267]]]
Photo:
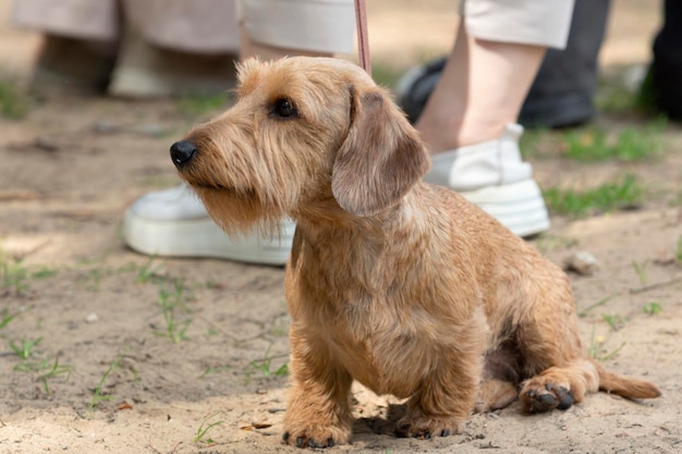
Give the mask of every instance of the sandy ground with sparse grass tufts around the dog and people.
[[[404, 0], [370, 3], [375, 59], [404, 68], [447, 51], [455, 17], [442, 13], [448, 2], [421, 2], [416, 11]], [[614, 3], [602, 61], [646, 62], [658, 2]], [[2, 17], [8, 8], [0, 1]], [[415, 24], [421, 32], [404, 33]], [[26, 73], [37, 44], [36, 35], [3, 23], [0, 64]], [[23, 121], [0, 119], [1, 453], [295, 451], [280, 444], [289, 348], [283, 270], [150, 259], [121, 240], [125, 207], [175, 184], [168, 146], [199, 120], [173, 101], [92, 98], [50, 98]], [[390, 400], [358, 388], [353, 444], [330, 452], [680, 452], [682, 267], [673, 257], [682, 236], [682, 132], [669, 126], [662, 136], [665, 152], [645, 163], [534, 162], [543, 185], [626, 170], [657, 194], [635, 211], [553, 217], [535, 243], [558, 263], [575, 250], [597, 257], [597, 274], [571, 274], [585, 344], [608, 368], [657, 383], [661, 398], [596, 394], [539, 416], [513, 404], [473, 416], [461, 434], [419, 441], [395, 439], [386, 420]], [[174, 307], [176, 342], [165, 335], [159, 300]], [[26, 359], [10, 346], [38, 339]]]

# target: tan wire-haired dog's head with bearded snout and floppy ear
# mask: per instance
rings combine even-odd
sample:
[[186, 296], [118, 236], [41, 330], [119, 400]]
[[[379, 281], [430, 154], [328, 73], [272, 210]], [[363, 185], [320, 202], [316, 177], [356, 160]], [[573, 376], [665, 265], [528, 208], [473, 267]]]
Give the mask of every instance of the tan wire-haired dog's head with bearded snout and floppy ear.
[[228, 232], [320, 210], [373, 216], [428, 169], [416, 131], [352, 63], [249, 60], [239, 79], [234, 107], [171, 147], [181, 176]]

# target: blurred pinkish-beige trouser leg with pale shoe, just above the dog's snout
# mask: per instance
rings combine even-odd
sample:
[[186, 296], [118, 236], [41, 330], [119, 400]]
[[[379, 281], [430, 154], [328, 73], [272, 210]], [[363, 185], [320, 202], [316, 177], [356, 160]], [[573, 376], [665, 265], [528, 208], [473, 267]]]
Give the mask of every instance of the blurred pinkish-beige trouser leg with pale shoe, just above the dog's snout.
[[109, 94], [155, 98], [234, 85], [236, 0], [123, 0], [124, 33]]

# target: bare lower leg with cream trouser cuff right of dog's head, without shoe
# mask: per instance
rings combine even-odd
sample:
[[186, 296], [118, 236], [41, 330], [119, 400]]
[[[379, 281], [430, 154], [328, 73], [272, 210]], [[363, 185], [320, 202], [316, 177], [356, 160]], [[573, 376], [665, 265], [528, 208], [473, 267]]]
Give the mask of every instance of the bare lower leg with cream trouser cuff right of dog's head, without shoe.
[[417, 122], [435, 152], [499, 137], [547, 47], [565, 46], [572, 1], [465, 0], [443, 74]]

